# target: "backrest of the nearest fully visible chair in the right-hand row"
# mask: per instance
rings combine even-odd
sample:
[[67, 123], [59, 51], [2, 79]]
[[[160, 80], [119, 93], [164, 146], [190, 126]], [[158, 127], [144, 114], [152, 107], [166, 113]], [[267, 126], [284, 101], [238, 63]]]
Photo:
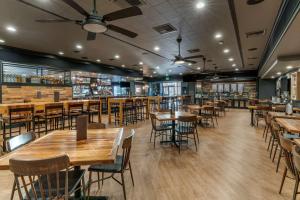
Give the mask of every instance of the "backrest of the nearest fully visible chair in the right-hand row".
[[279, 138], [280, 138], [280, 145], [284, 155], [286, 167], [293, 175], [295, 175], [295, 167], [293, 163], [293, 154], [292, 154], [294, 144], [290, 139], [286, 139], [282, 135], [280, 135]]

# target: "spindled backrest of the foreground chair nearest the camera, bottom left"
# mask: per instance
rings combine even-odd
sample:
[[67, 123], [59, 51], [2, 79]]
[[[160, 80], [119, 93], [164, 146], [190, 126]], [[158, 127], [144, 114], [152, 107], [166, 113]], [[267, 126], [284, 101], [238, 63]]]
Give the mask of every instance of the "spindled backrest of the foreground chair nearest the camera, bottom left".
[[[19, 198], [68, 199], [69, 162], [67, 155], [41, 160], [10, 159], [9, 169], [14, 173]], [[59, 173], [61, 170], [66, 170], [64, 175]]]

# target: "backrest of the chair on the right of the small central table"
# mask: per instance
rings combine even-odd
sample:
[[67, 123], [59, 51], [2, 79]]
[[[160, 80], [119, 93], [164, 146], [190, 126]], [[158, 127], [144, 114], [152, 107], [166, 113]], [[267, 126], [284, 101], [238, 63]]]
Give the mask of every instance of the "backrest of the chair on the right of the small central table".
[[197, 116], [179, 116], [177, 128], [181, 133], [194, 133], [197, 127]]

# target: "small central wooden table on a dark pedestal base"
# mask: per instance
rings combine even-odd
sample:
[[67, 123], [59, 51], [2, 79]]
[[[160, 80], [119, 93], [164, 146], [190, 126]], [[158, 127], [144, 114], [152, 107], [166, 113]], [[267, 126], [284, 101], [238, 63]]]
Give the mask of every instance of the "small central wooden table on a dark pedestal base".
[[175, 146], [178, 146], [175, 138], [175, 126], [176, 126], [176, 120], [180, 116], [196, 116], [194, 114], [191, 114], [189, 112], [182, 112], [182, 111], [176, 111], [174, 114], [171, 114], [170, 112], [154, 112], [156, 119], [160, 122], [165, 121], [172, 121], [172, 137], [170, 141], [163, 141], [162, 143], [173, 143]]

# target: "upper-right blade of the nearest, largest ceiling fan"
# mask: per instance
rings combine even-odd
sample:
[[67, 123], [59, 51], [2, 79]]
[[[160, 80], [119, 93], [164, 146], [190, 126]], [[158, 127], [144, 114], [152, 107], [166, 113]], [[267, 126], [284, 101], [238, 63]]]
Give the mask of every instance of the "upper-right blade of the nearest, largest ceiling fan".
[[127, 18], [127, 17], [133, 17], [137, 15], [142, 15], [142, 11], [139, 7], [132, 6], [129, 8], [125, 8], [122, 10], [118, 10], [109, 14], [106, 14], [103, 16], [104, 21], [114, 21], [117, 19]]

